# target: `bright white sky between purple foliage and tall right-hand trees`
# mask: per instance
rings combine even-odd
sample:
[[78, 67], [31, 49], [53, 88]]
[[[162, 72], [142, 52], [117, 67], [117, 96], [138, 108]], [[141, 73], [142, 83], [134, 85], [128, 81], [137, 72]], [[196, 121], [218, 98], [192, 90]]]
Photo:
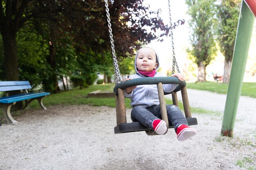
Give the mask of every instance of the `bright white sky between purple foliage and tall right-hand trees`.
[[[161, 2], [161, 3], [159, 3]], [[173, 39], [174, 39], [174, 48], [175, 48], [175, 57], [182, 72], [183, 66], [186, 62], [186, 48], [189, 46], [189, 15], [186, 14], [187, 5], [184, 0], [170, 0], [171, 2], [171, 18], [172, 23], [177, 22], [177, 20], [184, 19], [185, 24], [179, 25], [173, 29]], [[169, 9], [168, 9], [168, 0], [145, 0], [144, 3], [150, 5], [150, 10], [155, 11], [161, 9], [160, 17], [163, 19], [165, 24], [170, 23], [169, 19]], [[160, 67], [162, 72], [171, 71], [172, 67], [172, 46], [171, 46], [171, 37], [164, 37], [163, 42], [157, 42], [154, 40], [147, 46], [155, 49], [159, 55]]]

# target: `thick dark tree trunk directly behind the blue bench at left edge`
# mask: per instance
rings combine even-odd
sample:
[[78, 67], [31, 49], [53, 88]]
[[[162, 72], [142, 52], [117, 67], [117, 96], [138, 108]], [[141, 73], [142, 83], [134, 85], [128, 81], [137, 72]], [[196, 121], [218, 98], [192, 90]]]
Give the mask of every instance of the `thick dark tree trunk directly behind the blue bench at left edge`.
[[[31, 17], [33, 6], [31, 0], [0, 0], [0, 32], [4, 47], [4, 73], [6, 80], [19, 80], [16, 35], [18, 30]], [[27, 10], [25, 10], [27, 9]], [[35, 12], [36, 13], [36, 12]], [[9, 91], [9, 95], [16, 95], [19, 91]], [[18, 102], [16, 108], [22, 108]]]

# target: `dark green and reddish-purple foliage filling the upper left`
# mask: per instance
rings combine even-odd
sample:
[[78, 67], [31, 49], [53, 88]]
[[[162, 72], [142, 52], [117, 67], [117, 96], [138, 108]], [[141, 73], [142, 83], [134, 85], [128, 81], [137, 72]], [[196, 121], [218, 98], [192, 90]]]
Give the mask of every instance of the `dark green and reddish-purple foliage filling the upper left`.
[[[153, 32], [147, 33], [146, 26], [158, 29], [160, 36], [168, 33], [168, 27], [158, 17], [159, 11], [150, 11], [142, 2], [109, 3], [119, 56], [130, 56], [134, 49], [139, 48], [139, 41], [148, 43], [158, 38]], [[0, 31], [4, 43], [1, 37], [0, 79], [29, 80], [33, 87], [42, 84], [45, 91], [58, 92], [57, 80], [63, 77], [78, 77], [90, 85], [98, 73], [108, 78], [113, 74], [112, 57], [106, 52], [111, 48], [106, 8], [102, 1], [22, 0], [17, 5], [16, 1], [4, 0], [1, 3]], [[146, 17], [144, 11], [149, 11]], [[132, 25], [127, 25], [127, 22]], [[3, 47], [7, 51], [5, 54]], [[8, 75], [2, 64], [7, 59], [10, 60], [8, 63], [13, 61], [5, 64]]]

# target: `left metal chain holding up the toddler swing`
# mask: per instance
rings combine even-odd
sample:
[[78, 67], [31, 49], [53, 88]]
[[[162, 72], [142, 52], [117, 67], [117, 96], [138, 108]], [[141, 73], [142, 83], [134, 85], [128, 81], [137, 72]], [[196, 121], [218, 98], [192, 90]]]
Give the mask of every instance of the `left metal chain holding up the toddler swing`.
[[122, 82], [122, 79], [121, 79], [120, 71], [118, 68], [117, 57], [115, 55], [115, 46], [114, 46], [113, 34], [112, 34], [111, 23], [110, 23], [110, 14], [109, 14], [109, 9], [108, 9], [108, 0], [104, 0], [104, 1], [105, 1], [105, 6], [106, 6], [107, 18], [108, 18], [108, 28], [109, 28], [108, 31], [109, 31], [111, 48], [112, 48], [113, 65], [114, 65], [114, 70], [115, 70], [115, 80], [116, 80], [116, 85], [117, 85]]

